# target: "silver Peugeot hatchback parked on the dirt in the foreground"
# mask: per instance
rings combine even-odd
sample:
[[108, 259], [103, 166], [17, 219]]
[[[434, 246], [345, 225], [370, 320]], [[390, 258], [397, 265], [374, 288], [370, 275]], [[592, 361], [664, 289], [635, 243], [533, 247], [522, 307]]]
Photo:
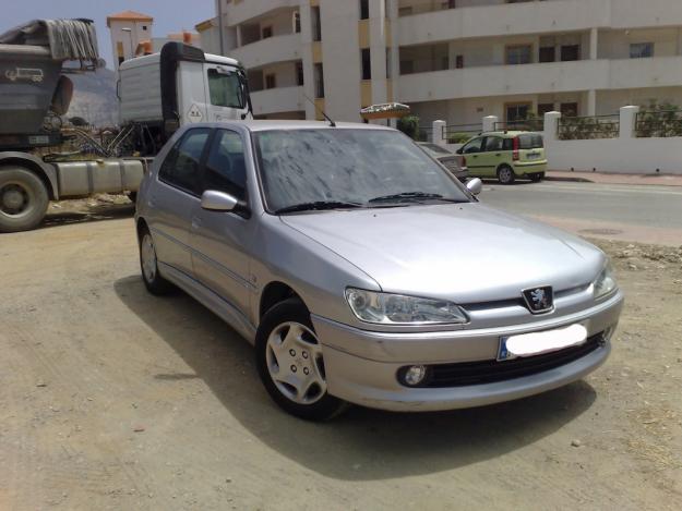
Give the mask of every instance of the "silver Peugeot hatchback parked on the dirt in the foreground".
[[478, 406], [582, 378], [623, 295], [605, 254], [480, 204], [402, 133], [304, 121], [193, 124], [144, 178], [142, 276], [255, 346], [272, 398]]

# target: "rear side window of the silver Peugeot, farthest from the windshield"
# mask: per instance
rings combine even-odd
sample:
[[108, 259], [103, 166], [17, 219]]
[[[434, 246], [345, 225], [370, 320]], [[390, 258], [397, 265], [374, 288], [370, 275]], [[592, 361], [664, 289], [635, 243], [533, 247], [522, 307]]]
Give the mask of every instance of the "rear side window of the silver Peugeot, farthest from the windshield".
[[199, 167], [211, 130], [188, 131], [170, 149], [158, 170], [158, 179], [192, 194], [199, 193]]

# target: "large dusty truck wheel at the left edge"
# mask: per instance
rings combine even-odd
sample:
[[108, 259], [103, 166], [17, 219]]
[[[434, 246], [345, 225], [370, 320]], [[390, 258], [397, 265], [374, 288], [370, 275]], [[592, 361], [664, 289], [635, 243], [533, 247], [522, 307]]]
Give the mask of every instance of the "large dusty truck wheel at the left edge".
[[34, 229], [49, 202], [45, 183], [34, 172], [21, 167], [0, 169], [0, 232]]

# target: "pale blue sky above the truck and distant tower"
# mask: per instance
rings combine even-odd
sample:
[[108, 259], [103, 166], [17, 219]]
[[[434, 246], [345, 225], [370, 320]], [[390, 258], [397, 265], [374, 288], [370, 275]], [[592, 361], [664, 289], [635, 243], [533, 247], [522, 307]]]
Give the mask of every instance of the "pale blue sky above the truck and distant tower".
[[[9, 7], [11, 3], [11, 8]], [[137, 11], [154, 17], [154, 37], [194, 31], [194, 25], [215, 16], [214, 0], [0, 0], [0, 34], [36, 19], [87, 17], [95, 21], [99, 54], [111, 65], [111, 41], [107, 15]]]

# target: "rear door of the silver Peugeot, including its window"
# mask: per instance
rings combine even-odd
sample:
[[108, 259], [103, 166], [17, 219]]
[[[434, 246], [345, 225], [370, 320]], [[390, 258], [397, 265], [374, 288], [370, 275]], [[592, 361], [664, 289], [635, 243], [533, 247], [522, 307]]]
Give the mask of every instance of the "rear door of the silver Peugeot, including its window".
[[191, 212], [199, 207], [200, 166], [210, 129], [189, 130], [170, 149], [151, 188], [147, 218], [156, 257], [161, 264], [192, 273], [189, 248]]

